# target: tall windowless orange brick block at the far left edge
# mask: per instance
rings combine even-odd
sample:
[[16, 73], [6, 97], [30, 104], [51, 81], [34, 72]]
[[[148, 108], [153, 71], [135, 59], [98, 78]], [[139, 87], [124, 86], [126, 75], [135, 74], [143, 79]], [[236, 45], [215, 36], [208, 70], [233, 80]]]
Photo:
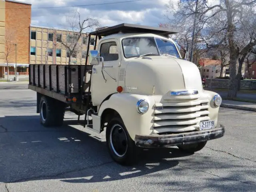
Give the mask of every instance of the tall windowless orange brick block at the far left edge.
[[0, 0], [0, 8], [0, 78], [7, 76], [6, 52], [9, 53], [10, 78], [14, 77], [16, 60], [18, 75], [27, 76], [31, 4], [15, 0]]

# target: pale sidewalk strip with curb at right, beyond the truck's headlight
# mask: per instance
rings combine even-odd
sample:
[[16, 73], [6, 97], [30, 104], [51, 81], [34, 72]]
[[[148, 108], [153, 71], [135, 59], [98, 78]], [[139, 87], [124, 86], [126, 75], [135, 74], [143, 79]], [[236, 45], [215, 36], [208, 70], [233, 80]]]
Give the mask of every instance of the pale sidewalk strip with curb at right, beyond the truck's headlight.
[[256, 103], [222, 100], [222, 104], [220, 106], [223, 108], [233, 108], [256, 112]]

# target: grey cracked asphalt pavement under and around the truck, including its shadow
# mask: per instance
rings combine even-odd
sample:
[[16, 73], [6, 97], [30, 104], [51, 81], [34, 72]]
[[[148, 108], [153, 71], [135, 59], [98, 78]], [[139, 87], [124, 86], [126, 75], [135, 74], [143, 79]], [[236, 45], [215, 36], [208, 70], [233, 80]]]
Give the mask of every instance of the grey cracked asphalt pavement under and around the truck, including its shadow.
[[45, 128], [36, 93], [0, 84], [0, 192], [256, 191], [256, 113], [220, 108], [224, 137], [188, 155], [176, 147], [149, 150], [122, 167], [106, 150], [104, 133], [76, 125]]

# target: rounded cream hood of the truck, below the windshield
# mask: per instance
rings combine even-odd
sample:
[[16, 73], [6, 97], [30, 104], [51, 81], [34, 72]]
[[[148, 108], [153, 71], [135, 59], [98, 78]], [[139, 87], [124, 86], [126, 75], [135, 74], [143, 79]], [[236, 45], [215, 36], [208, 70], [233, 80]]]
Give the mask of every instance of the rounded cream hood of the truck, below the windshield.
[[170, 96], [171, 91], [202, 92], [198, 67], [189, 61], [165, 56], [133, 59], [126, 67], [126, 92]]

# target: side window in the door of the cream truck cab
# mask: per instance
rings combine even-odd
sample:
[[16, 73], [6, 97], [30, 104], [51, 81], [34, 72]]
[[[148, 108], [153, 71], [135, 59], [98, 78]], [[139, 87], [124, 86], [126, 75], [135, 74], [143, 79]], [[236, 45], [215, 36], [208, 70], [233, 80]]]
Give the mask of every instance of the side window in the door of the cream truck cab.
[[116, 61], [118, 60], [118, 49], [115, 41], [102, 43], [100, 46], [100, 57], [103, 57], [104, 61]]

